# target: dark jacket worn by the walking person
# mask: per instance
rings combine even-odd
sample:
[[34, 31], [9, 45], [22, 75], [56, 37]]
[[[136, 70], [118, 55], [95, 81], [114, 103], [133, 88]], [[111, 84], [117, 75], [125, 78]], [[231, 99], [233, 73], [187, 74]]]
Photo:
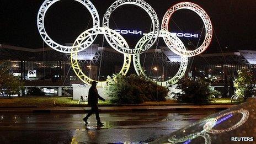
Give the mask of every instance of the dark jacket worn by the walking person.
[[97, 88], [90, 87], [88, 93], [88, 105], [94, 106], [98, 104], [98, 99], [105, 101], [104, 98], [100, 97]]

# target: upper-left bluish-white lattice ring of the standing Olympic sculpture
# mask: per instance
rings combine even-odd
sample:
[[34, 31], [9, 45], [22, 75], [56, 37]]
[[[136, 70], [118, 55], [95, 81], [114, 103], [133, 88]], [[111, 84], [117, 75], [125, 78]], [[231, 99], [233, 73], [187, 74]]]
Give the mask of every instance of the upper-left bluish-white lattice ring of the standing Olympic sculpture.
[[[52, 6], [52, 4], [54, 4], [58, 1], [60, 1], [60, 0], [46, 0], [44, 3], [42, 3], [42, 6], [39, 9], [38, 18], [37, 18], [38, 30], [39, 30], [39, 33], [40, 33], [42, 39], [45, 41], [45, 43], [48, 46], [50, 46], [52, 49], [54, 49], [56, 51], [70, 54], [72, 49], [76, 49], [76, 46], [64, 46], [64, 45], [58, 44], [57, 42], [52, 40], [50, 38], [50, 36], [46, 33], [45, 26], [44, 26], [44, 19], [45, 19], [45, 14], [46, 14], [47, 10]], [[74, 1], [77, 1], [81, 4], [83, 4], [83, 6], [85, 6], [89, 10], [90, 14], [92, 15], [92, 19], [93, 19], [93, 28], [98, 28], [100, 26], [99, 14], [97, 12], [97, 9], [92, 4], [92, 2], [90, 2], [89, 0], [74, 0]], [[95, 35], [94, 38], [90, 41], [84, 41], [84, 43], [81, 44], [81, 46], [79, 47], [79, 49], [77, 51], [82, 51], [82, 50], [86, 49], [87, 48], [86, 45], [92, 44], [93, 41], [96, 39], [96, 37], [97, 37], [97, 35]]]

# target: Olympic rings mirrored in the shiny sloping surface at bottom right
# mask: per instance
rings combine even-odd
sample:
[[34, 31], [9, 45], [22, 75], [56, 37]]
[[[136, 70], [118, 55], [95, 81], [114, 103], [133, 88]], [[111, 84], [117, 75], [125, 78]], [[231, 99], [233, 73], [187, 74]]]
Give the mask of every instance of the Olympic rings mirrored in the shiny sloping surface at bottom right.
[[[220, 124], [221, 121], [218, 121], [218, 120], [225, 117], [226, 115], [231, 115], [231, 114], [235, 114], [235, 113], [242, 114], [241, 120], [239, 120], [235, 125], [227, 128], [227, 129], [224, 129], [224, 130], [214, 130], [213, 129], [214, 126]], [[195, 132], [193, 134], [189, 134], [189, 135], [183, 136], [181, 138], [177, 138], [177, 136], [174, 135], [173, 137], [168, 138], [168, 141], [173, 144], [173, 143], [179, 143], [179, 142], [186, 142], [188, 140], [193, 140], [199, 136], [202, 136], [205, 139], [205, 143], [208, 144], [208, 143], [211, 143], [211, 137], [207, 133], [220, 134], [222, 132], [232, 131], [234, 129], [237, 129], [239, 126], [242, 126], [248, 120], [248, 118], [249, 118], [249, 111], [246, 109], [242, 108], [239, 110], [230, 111], [228, 113], [221, 114], [221, 115], [217, 116], [216, 118], [211, 118], [211, 119], [206, 119], [206, 120], [200, 121], [200, 123], [205, 123], [205, 125], [203, 126], [203, 130], [200, 132]]]

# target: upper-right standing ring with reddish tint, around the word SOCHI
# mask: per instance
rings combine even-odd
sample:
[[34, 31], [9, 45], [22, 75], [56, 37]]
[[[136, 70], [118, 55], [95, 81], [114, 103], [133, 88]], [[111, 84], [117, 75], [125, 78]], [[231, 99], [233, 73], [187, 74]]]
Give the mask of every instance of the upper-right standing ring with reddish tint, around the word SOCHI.
[[[202, 42], [202, 45], [193, 51], [176, 49], [176, 47], [173, 47], [172, 51], [177, 55], [183, 55], [188, 57], [199, 55], [202, 52], [204, 52], [211, 43], [211, 40], [212, 40], [211, 19], [209, 15], [205, 12], [205, 10], [202, 9], [197, 4], [190, 3], [190, 2], [182, 2], [182, 3], [175, 4], [173, 7], [167, 10], [162, 20], [162, 30], [169, 31], [169, 20], [172, 17], [173, 13], [179, 9], [189, 9], [199, 15], [199, 17], [202, 19], [202, 22], [204, 23], [204, 26], [205, 26], [205, 39], [204, 39], [204, 42]], [[168, 43], [168, 40], [164, 38], [164, 42]]]

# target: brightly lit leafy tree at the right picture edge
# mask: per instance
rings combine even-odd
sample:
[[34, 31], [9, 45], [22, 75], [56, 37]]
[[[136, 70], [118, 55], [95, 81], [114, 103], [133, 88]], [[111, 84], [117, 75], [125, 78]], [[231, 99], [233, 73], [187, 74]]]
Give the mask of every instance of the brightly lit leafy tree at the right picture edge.
[[234, 80], [234, 88], [236, 88], [236, 95], [243, 97], [246, 100], [253, 95], [255, 92], [256, 78], [255, 73], [252, 70], [243, 68], [238, 71], [238, 78]]

